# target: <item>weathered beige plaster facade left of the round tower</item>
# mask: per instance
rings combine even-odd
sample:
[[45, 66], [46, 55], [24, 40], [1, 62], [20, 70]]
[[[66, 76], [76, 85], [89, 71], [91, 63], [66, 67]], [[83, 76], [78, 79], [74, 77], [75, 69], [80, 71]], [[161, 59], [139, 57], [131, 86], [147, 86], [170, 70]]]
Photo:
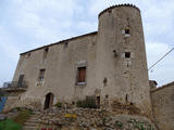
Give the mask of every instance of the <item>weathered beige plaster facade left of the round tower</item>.
[[[22, 54], [13, 81], [17, 81], [20, 75], [24, 74], [24, 80], [28, 82], [28, 88], [20, 95], [21, 101], [17, 101], [17, 104], [14, 102], [14, 104], [26, 104], [29, 100], [41, 102], [44, 106], [46, 94], [49, 92], [54, 94], [54, 103], [58, 101], [72, 103], [76, 99], [92, 94], [96, 36], [97, 32], [92, 32], [48, 46], [49, 51], [45, 62], [42, 57], [45, 48]], [[67, 44], [65, 46], [65, 43]], [[76, 84], [77, 67], [80, 65], [87, 66], [87, 82], [83, 86]], [[38, 81], [40, 69], [46, 69], [44, 81]]]

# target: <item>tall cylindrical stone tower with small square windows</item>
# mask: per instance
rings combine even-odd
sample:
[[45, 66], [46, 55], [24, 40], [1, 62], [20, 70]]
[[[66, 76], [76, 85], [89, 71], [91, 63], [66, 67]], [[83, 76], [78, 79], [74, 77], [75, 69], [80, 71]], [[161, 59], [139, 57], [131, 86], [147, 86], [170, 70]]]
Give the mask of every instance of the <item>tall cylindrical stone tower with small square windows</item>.
[[151, 114], [150, 87], [140, 11], [114, 5], [99, 14], [97, 84], [101, 101], [116, 100]]

